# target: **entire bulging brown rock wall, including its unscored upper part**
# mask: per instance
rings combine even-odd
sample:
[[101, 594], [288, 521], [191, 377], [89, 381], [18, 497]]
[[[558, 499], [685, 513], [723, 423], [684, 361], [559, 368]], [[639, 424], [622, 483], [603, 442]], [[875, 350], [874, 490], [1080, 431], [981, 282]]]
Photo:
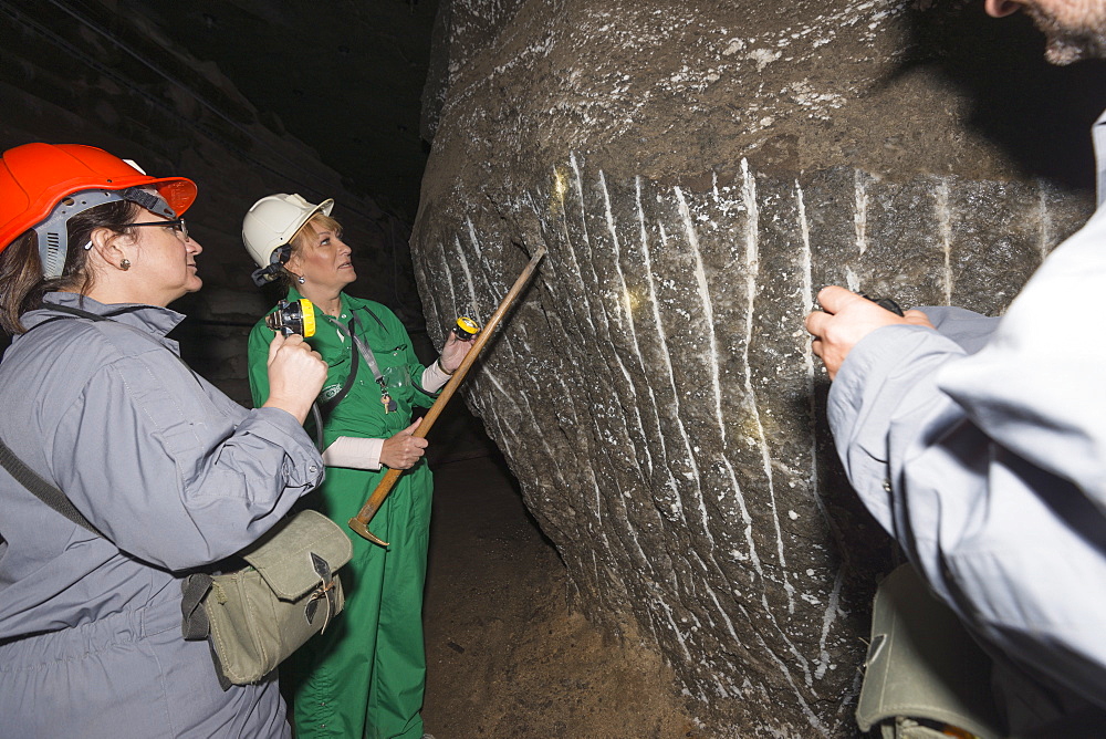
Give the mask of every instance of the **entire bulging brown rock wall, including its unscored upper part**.
[[709, 736], [854, 733], [891, 551], [842, 478], [803, 318], [834, 283], [1001, 313], [1089, 212], [1100, 69], [1057, 77], [974, 8], [440, 13], [424, 306], [487, 320], [547, 248], [467, 397], [574, 602], [656, 645]]

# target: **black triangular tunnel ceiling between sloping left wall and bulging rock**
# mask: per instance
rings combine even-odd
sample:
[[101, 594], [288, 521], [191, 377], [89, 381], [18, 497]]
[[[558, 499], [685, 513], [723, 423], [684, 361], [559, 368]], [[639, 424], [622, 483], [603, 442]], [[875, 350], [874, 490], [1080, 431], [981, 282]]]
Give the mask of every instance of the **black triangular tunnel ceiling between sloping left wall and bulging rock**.
[[410, 220], [428, 147], [422, 84], [438, 0], [126, 3], [215, 62], [271, 127], [319, 152], [352, 190]]

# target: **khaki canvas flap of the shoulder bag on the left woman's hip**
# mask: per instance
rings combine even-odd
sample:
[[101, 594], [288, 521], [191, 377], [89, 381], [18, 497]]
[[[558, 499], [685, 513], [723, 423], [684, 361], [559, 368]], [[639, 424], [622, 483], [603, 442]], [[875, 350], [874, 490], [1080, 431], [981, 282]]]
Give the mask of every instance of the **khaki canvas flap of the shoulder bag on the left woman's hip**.
[[285, 601], [302, 597], [321, 577], [312, 554], [334, 572], [353, 556], [349, 537], [319, 511], [300, 511], [259, 539], [239, 555], [249, 562]]

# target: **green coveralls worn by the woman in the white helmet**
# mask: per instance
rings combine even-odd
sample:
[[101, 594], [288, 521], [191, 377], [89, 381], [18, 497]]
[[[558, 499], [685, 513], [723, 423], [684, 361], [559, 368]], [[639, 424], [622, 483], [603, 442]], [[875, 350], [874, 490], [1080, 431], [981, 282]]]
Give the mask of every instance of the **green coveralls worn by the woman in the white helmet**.
[[[301, 295], [293, 289], [289, 300]], [[373, 351], [388, 392], [397, 404], [385, 413], [380, 387], [358, 354], [348, 393], [325, 406], [351, 373], [352, 342], [332, 321], [347, 329], [356, 315], [356, 333]], [[375, 316], [375, 318], [374, 318]], [[260, 321], [250, 332], [250, 387], [253, 403], [269, 397], [268, 356], [273, 332]], [[424, 366], [396, 315], [384, 305], [342, 293], [338, 319], [316, 310], [316, 333], [307, 343], [330, 366], [320, 393], [323, 448], [340, 436], [388, 438], [410, 425], [413, 405], [429, 407], [434, 395], [418, 382]], [[395, 378], [406, 378], [396, 386]], [[310, 420], [307, 426], [313, 426]], [[309, 433], [313, 429], [309, 428]], [[422, 644], [422, 585], [426, 580], [432, 480], [425, 460], [404, 472], [369, 523], [369, 530], [389, 543], [373, 544], [348, 530], [387, 472], [327, 467], [322, 486], [304, 502], [336, 521], [353, 541], [353, 559], [340, 574], [345, 610], [280, 667], [284, 695], [292, 702], [298, 739], [342, 737], [385, 739], [422, 736], [422, 694], [426, 653]]]

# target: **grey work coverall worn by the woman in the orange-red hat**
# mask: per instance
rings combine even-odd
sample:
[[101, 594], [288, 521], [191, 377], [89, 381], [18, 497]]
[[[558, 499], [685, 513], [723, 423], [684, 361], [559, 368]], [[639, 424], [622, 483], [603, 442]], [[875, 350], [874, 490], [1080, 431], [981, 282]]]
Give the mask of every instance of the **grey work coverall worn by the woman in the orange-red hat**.
[[131, 308], [32, 311], [0, 363], [0, 436], [106, 537], [0, 470], [0, 737], [288, 736], [274, 680], [223, 691], [181, 638], [179, 581], [276, 523], [322, 460], [291, 415], [178, 360], [180, 314]]

